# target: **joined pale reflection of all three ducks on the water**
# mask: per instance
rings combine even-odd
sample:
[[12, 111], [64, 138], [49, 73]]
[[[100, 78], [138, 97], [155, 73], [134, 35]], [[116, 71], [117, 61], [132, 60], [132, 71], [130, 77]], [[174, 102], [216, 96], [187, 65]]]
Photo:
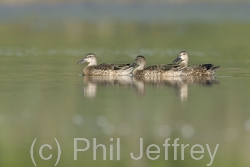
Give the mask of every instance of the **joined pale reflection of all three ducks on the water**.
[[84, 95], [88, 98], [96, 96], [98, 86], [122, 86], [133, 87], [138, 95], [144, 95], [147, 85], [153, 87], [164, 86], [177, 91], [181, 101], [188, 98], [188, 86], [212, 86], [219, 84], [213, 76], [83, 76]]

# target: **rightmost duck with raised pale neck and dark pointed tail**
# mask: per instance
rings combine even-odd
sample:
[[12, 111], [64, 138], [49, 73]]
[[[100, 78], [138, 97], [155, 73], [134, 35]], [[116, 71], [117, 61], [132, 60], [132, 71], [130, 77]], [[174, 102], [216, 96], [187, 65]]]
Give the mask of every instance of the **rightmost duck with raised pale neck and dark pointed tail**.
[[213, 64], [188, 66], [188, 60], [188, 52], [181, 51], [173, 61], [175, 64], [180, 61], [178, 68], [181, 71], [181, 76], [213, 76], [215, 71], [220, 68], [220, 66], [214, 66]]

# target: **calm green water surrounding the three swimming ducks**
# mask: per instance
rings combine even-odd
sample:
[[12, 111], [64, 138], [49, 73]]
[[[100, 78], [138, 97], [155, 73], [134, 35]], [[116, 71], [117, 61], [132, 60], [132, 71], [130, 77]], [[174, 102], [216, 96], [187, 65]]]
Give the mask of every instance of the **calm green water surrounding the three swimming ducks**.
[[[199, 11], [199, 19], [193, 20], [192, 9], [204, 6], [173, 5], [168, 11], [171, 17], [163, 18], [166, 22], [155, 19], [164, 15], [164, 6], [158, 8], [159, 5], [150, 8], [159, 11], [147, 19], [142, 16], [148, 12], [138, 5], [133, 10], [126, 5], [117, 5], [115, 10], [91, 6], [102, 10], [97, 14], [89, 11], [86, 18], [77, 17], [81, 7], [74, 10], [72, 6], [54, 6], [54, 12], [53, 7], [46, 6], [9, 7], [10, 11], [16, 8], [21, 12], [1, 15], [0, 22], [0, 166], [34, 166], [30, 148], [35, 138], [37, 166], [55, 165], [55, 138], [61, 148], [57, 166], [207, 166], [211, 157], [206, 144], [212, 153], [219, 144], [212, 166], [247, 166], [250, 22], [246, 15], [250, 16], [250, 10], [247, 4], [236, 8], [227, 4], [215, 6]], [[42, 10], [29, 15], [36, 8], [46, 8], [53, 17], [48, 18]], [[180, 8], [189, 14], [175, 17]], [[232, 11], [238, 8], [241, 13], [235, 13], [230, 21]], [[65, 9], [71, 15], [57, 13], [65, 14]], [[140, 14], [137, 11], [133, 18], [122, 17], [119, 9], [123, 13], [138, 9]], [[208, 14], [212, 9], [223, 13], [214, 19]], [[107, 17], [99, 20], [98, 16], [105, 16], [106, 12]], [[112, 15], [114, 19], [109, 17], [112, 12], [117, 13], [116, 17]], [[190, 64], [214, 63], [221, 68], [213, 78], [142, 79], [83, 77], [85, 65], [76, 64], [89, 52], [97, 55], [99, 63], [132, 63], [139, 54], [147, 58], [148, 65], [171, 63], [181, 50], [189, 52]], [[86, 138], [90, 144], [89, 150], [78, 152], [77, 160], [74, 138]], [[103, 160], [102, 148], [97, 149], [97, 160], [93, 160], [94, 138], [97, 144], [106, 146], [107, 160]], [[130, 153], [139, 156], [140, 138], [144, 156], [133, 160]], [[163, 144], [167, 138], [170, 144], [179, 138], [180, 145], [189, 146], [185, 151], [181, 146], [177, 150], [169, 146], [165, 160]], [[52, 155], [50, 160], [39, 156], [43, 144], [51, 145], [52, 149], [48, 145], [42, 149], [44, 158]], [[159, 154], [157, 160], [147, 158], [146, 149], [151, 144], [159, 147], [160, 153], [150, 154], [153, 158]], [[204, 155], [200, 160], [190, 154], [195, 144], [204, 148], [204, 153], [194, 154], [196, 158]], [[157, 151], [155, 145], [151, 151]], [[78, 148], [86, 146], [86, 142], [78, 142]], [[195, 151], [201, 148], [196, 147]]]

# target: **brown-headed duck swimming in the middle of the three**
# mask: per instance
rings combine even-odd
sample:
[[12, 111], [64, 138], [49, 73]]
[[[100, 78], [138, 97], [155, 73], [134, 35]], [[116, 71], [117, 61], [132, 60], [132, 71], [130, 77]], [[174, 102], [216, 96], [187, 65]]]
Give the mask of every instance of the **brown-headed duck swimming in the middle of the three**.
[[130, 65], [137, 67], [133, 70], [134, 76], [179, 76], [181, 71], [177, 69], [176, 64], [162, 64], [146, 67], [146, 58], [142, 55], [136, 57], [135, 61]]

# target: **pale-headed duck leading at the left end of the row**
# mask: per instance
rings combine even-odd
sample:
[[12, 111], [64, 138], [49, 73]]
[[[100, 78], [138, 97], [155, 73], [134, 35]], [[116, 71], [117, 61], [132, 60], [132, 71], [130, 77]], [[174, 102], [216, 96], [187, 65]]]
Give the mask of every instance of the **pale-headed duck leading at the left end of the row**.
[[88, 53], [77, 64], [87, 62], [88, 65], [83, 69], [83, 75], [88, 76], [124, 76], [130, 75], [133, 67], [130, 64], [106, 64], [102, 63], [97, 65], [97, 58], [94, 53]]

